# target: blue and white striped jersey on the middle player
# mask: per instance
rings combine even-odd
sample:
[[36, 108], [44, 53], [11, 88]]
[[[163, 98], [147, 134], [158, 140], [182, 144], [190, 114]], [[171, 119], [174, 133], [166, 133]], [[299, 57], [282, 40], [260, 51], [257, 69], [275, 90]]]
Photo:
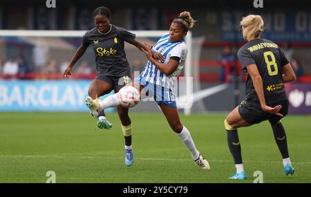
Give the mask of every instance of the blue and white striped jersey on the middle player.
[[169, 33], [163, 35], [158, 42], [151, 49], [153, 51], [162, 53], [164, 56], [164, 64], [169, 62], [170, 57], [180, 57], [180, 62], [175, 71], [169, 76], [162, 73], [154, 64], [150, 61], [144, 67], [144, 71], [140, 74], [147, 82], [151, 84], [156, 84], [164, 88], [174, 88], [174, 80], [180, 75], [182, 68], [185, 65], [185, 60], [187, 57], [187, 45], [185, 40], [182, 39], [178, 42], [171, 42], [169, 39]]

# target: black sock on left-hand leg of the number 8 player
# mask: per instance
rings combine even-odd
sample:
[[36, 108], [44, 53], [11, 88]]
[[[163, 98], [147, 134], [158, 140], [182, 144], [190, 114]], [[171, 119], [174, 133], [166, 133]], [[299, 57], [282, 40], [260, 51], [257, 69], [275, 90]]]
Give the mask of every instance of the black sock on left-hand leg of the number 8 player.
[[234, 158], [234, 164], [242, 163], [241, 144], [238, 140], [238, 130], [226, 130], [227, 131], [227, 143]]

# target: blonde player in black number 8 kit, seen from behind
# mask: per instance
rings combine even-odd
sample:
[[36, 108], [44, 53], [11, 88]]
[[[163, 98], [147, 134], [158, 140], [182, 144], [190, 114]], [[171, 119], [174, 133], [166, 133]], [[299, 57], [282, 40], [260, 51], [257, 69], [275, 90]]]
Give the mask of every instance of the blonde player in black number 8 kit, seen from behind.
[[246, 179], [237, 129], [269, 120], [276, 144], [283, 158], [284, 173], [293, 174], [285, 130], [281, 123], [288, 113], [284, 83], [296, 79], [292, 66], [274, 42], [260, 37], [263, 19], [248, 15], [241, 21], [243, 38], [247, 41], [238, 50], [238, 59], [247, 73], [245, 100], [225, 119], [227, 143], [234, 158], [236, 172], [229, 179]]

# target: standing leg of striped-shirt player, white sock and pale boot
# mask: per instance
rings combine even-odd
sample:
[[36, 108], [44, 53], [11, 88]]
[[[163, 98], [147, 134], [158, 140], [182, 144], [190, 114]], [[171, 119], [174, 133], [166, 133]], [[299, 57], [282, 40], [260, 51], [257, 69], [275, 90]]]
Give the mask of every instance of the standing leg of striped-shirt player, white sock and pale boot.
[[202, 169], [210, 169], [209, 162], [207, 162], [207, 160], [202, 157], [198, 149], [196, 149], [196, 145], [194, 144], [194, 140], [192, 139], [190, 132], [180, 122], [177, 109], [167, 106], [166, 104], [160, 104], [159, 106], [167, 118], [167, 122], [169, 122], [171, 129], [173, 129], [180, 140], [182, 140], [182, 143], [185, 145], [185, 147], [187, 147], [187, 149], [190, 151], [191, 157], [195, 161], [196, 165]]

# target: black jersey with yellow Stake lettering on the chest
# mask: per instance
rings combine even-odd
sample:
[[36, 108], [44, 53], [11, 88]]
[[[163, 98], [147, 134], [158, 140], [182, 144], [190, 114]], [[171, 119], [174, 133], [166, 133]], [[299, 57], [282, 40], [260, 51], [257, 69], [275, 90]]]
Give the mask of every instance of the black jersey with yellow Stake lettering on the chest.
[[82, 44], [86, 48], [91, 45], [94, 50], [97, 75], [122, 77], [131, 73], [124, 41], [133, 44], [134, 40], [133, 33], [111, 24], [111, 29], [105, 34], [97, 28], [86, 32]]

